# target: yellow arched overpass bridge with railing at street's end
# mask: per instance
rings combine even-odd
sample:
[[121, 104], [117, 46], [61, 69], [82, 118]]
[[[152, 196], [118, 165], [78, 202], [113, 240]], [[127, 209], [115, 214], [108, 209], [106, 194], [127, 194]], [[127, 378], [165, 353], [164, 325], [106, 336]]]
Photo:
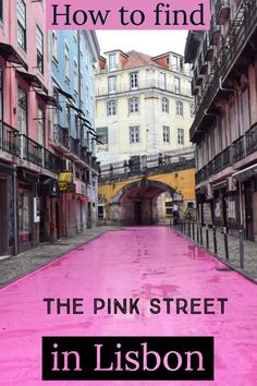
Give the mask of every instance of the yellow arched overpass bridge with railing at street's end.
[[101, 166], [98, 213], [111, 224], [151, 225], [171, 216], [176, 203], [195, 203], [194, 147], [132, 157]]

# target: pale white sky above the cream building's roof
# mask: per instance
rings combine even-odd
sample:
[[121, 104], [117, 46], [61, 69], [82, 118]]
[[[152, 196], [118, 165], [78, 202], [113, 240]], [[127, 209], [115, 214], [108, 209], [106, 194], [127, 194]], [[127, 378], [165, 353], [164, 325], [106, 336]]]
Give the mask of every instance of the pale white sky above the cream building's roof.
[[168, 51], [184, 55], [187, 31], [97, 31], [101, 55], [112, 49], [132, 49], [150, 56]]

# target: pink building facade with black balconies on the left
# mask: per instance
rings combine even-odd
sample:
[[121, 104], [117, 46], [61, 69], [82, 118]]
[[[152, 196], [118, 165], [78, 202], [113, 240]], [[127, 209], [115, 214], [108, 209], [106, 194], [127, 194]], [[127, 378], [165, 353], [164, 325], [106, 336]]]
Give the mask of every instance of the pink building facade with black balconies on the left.
[[[52, 114], [65, 109], [53, 93], [49, 35], [45, 1], [0, 1], [0, 255], [69, 236], [62, 227], [66, 210], [58, 180], [69, 171], [73, 149], [70, 136], [68, 154], [53, 145]], [[91, 60], [99, 52], [96, 39], [94, 45]], [[88, 51], [91, 49], [88, 47]], [[94, 134], [94, 120], [89, 117], [84, 123]], [[68, 121], [65, 126], [71, 130]], [[97, 176], [94, 154], [88, 157], [82, 167]], [[74, 164], [71, 168], [74, 170]], [[73, 192], [82, 193], [76, 186]], [[90, 202], [90, 192], [85, 193]]]

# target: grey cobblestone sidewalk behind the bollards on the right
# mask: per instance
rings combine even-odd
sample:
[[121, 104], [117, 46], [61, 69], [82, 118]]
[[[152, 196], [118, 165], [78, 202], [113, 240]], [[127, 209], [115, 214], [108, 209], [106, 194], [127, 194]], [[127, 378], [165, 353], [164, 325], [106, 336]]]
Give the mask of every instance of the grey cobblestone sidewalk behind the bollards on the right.
[[[203, 227], [203, 246], [207, 249], [206, 228]], [[193, 231], [191, 230], [191, 238]], [[209, 249], [208, 251], [215, 254], [213, 230], [208, 229]], [[257, 243], [244, 240], [244, 268], [240, 268], [240, 238], [228, 234], [229, 260], [225, 260], [224, 234], [221, 228], [217, 228], [217, 255], [225, 264], [233, 269], [244, 274], [257, 284]], [[186, 236], [188, 237], [188, 229], [186, 228]], [[195, 228], [195, 241], [196, 241]]]

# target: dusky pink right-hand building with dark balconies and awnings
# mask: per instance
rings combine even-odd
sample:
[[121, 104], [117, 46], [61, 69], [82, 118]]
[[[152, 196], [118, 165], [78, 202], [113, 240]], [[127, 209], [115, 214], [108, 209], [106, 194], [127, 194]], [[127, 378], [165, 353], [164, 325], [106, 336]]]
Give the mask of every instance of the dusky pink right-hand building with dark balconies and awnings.
[[199, 219], [257, 240], [257, 3], [212, 0], [209, 32], [189, 32]]

